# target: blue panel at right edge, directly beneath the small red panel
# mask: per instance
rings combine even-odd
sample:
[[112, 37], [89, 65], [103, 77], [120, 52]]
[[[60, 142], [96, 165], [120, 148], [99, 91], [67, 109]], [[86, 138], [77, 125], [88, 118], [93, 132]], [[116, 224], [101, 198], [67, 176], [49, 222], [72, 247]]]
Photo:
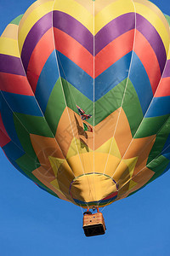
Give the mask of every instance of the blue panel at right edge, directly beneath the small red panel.
[[156, 117], [170, 113], [170, 96], [156, 97], [150, 105], [146, 117]]

